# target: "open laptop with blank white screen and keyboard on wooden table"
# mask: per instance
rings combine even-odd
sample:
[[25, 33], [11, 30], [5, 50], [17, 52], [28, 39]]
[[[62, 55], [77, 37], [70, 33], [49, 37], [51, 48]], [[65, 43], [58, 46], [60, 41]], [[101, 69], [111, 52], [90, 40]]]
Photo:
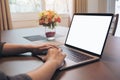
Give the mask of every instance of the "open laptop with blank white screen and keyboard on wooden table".
[[99, 61], [112, 19], [111, 13], [75, 13], [65, 43], [60, 46], [67, 55], [61, 70]]

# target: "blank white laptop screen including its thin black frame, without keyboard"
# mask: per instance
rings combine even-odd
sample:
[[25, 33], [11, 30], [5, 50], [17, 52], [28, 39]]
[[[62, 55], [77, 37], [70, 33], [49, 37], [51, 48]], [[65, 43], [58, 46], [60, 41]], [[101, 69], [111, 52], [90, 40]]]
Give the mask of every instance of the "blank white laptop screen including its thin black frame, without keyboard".
[[113, 14], [74, 14], [65, 45], [101, 55], [112, 17]]

